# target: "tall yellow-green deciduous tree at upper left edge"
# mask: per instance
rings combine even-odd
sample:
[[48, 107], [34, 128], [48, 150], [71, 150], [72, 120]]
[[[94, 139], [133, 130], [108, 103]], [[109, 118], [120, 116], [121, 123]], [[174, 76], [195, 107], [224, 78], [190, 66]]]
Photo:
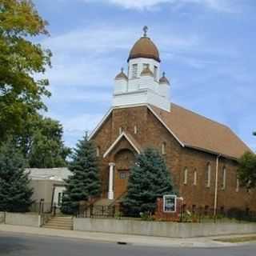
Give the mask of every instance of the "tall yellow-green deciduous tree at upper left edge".
[[20, 132], [37, 110], [46, 109], [50, 96], [45, 78], [36, 78], [50, 67], [50, 50], [32, 38], [47, 35], [43, 20], [30, 0], [0, 0], [0, 140]]

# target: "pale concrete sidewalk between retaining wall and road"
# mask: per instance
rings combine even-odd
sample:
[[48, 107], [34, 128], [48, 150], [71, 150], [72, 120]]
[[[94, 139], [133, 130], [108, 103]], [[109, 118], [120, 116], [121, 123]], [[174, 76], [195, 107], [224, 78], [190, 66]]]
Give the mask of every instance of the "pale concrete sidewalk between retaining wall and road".
[[[238, 246], [245, 243], [216, 242], [216, 238], [242, 237], [242, 235], [208, 237], [208, 238], [162, 238], [127, 234], [109, 234], [74, 230], [53, 230], [30, 226], [12, 226], [0, 224], [0, 232], [14, 232], [22, 234], [36, 234], [42, 236], [54, 236], [62, 238], [77, 238], [92, 240], [94, 242], [126, 242], [133, 246], [170, 246], [170, 247], [224, 247]], [[252, 234], [244, 235], [251, 236]]]

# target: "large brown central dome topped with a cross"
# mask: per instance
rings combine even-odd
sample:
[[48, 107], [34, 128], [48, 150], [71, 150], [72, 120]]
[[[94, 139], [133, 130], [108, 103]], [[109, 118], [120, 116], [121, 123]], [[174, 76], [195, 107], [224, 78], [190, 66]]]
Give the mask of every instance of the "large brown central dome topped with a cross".
[[134, 46], [130, 50], [127, 62], [133, 58], [153, 58], [157, 62], [160, 62], [157, 46], [155, 46], [154, 42], [152, 42], [150, 38], [147, 37], [147, 26], [144, 26], [143, 30], [144, 35], [142, 38], [138, 39], [137, 42], [135, 42]]

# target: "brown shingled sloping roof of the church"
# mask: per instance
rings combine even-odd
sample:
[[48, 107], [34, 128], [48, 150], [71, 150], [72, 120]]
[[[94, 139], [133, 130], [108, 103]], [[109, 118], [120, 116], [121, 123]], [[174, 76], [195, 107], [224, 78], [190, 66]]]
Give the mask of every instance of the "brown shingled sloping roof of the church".
[[166, 124], [185, 146], [239, 158], [248, 146], [229, 127], [171, 104], [170, 112], [150, 106], [154, 114]]

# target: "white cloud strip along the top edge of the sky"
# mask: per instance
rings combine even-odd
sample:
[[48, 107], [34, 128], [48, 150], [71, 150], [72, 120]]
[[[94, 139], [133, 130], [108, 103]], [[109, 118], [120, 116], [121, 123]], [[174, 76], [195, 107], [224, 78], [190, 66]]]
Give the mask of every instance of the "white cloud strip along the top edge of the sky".
[[212, 10], [234, 12], [235, 0], [82, 0], [83, 2], [106, 2], [126, 9], [152, 10], [152, 8], [161, 4], [170, 4], [171, 6], [196, 4], [206, 6]]

